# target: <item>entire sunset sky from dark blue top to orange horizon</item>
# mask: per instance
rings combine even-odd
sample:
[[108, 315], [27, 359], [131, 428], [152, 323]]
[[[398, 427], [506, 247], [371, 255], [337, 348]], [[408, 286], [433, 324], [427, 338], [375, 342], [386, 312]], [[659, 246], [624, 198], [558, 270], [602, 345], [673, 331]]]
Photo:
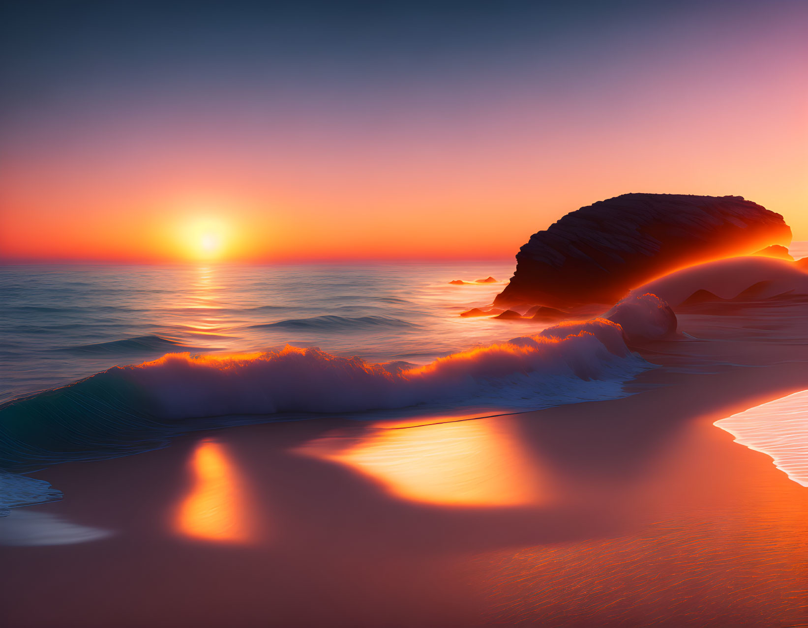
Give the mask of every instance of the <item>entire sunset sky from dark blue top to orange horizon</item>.
[[627, 192], [808, 240], [808, 4], [6, 2], [0, 260], [509, 258]]

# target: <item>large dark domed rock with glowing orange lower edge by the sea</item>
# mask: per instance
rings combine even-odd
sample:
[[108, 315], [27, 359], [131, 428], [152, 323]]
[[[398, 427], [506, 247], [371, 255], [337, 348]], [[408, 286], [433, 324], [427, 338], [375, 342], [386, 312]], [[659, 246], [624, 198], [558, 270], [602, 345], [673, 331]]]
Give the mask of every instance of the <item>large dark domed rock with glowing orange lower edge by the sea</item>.
[[780, 214], [743, 196], [624, 194], [534, 233], [494, 305], [610, 304], [681, 266], [790, 242]]

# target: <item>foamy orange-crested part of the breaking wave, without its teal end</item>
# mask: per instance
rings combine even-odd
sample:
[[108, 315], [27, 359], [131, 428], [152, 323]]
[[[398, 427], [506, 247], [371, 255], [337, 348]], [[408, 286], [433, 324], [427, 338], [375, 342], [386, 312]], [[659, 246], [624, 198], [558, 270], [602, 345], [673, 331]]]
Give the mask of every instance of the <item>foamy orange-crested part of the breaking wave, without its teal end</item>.
[[246, 356], [169, 354], [108, 373], [137, 385], [156, 416], [184, 419], [419, 405], [541, 408], [619, 396], [625, 379], [649, 367], [627, 349], [620, 325], [595, 319], [451, 354], [426, 366], [372, 364], [286, 346]]

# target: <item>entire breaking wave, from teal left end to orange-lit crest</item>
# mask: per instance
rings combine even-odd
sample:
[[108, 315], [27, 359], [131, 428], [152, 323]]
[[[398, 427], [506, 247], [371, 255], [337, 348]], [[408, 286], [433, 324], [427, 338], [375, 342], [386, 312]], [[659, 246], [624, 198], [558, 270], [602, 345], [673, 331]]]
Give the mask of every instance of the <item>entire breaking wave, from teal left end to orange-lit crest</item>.
[[189, 430], [246, 422], [363, 418], [362, 412], [372, 419], [371, 411], [402, 408], [524, 411], [612, 399], [652, 366], [627, 347], [626, 338], [637, 335], [629, 325], [644, 337], [664, 337], [675, 331], [675, 316], [653, 295], [626, 299], [608, 316], [567, 321], [424, 366], [290, 345], [228, 356], [170, 353], [115, 366], [0, 405], [0, 468], [130, 454]]

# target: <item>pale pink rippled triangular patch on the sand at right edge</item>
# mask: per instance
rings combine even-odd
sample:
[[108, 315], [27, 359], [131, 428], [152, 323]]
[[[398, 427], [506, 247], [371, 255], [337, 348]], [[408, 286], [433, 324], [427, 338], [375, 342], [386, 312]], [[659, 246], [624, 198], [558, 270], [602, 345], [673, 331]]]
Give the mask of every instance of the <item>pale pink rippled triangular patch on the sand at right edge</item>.
[[735, 442], [774, 458], [797, 484], [808, 487], [808, 390], [716, 421]]

